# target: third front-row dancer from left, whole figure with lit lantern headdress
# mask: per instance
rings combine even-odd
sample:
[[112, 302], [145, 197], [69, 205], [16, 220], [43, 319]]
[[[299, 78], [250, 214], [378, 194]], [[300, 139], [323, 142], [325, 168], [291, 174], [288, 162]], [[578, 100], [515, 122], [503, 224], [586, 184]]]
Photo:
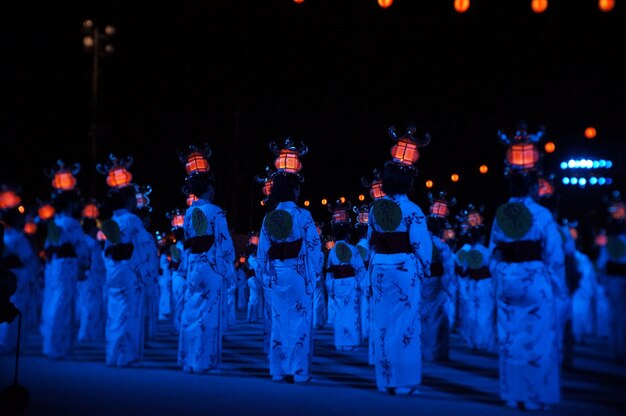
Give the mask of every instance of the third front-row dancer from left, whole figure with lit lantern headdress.
[[187, 282], [178, 363], [193, 373], [215, 370], [221, 362], [224, 287], [235, 279], [235, 248], [226, 212], [212, 202], [210, 154], [208, 145], [203, 151], [190, 146], [190, 154], [181, 158], [188, 173], [183, 189], [198, 197], [185, 213], [185, 255], [178, 268]]

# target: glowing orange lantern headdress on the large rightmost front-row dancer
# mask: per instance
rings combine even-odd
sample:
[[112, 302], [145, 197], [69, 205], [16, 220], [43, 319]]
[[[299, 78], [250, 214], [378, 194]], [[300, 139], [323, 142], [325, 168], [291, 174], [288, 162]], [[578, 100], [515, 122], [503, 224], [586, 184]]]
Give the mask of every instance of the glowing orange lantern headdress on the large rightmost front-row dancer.
[[525, 123], [520, 123], [513, 138], [509, 138], [502, 131], [498, 131], [500, 142], [508, 147], [504, 163], [505, 175], [519, 173], [526, 174], [535, 172], [541, 159], [539, 142], [545, 134], [545, 129], [541, 127], [535, 134], [527, 132]]

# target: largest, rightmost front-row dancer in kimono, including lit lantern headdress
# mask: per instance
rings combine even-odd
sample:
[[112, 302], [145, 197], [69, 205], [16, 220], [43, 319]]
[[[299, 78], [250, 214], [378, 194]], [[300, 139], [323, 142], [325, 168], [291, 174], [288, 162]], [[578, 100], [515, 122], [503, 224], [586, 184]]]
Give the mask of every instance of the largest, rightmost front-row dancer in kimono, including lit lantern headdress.
[[[513, 140], [500, 137], [510, 146], [511, 194], [496, 212], [489, 245], [498, 308], [500, 395], [509, 407], [535, 410], [560, 401], [554, 287], [564, 255], [551, 213], [533, 200], [541, 133], [528, 135], [522, 128]], [[531, 157], [520, 157], [519, 146]]]

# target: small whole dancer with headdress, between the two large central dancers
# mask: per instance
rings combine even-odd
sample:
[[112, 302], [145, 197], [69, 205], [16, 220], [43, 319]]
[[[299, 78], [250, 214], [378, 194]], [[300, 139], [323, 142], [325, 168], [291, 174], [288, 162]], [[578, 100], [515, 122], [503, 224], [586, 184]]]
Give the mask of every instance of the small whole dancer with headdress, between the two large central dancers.
[[356, 350], [361, 344], [361, 292], [365, 280], [365, 265], [357, 248], [349, 243], [351, 223], [349, 202], [337, 201], [329, 206], [335, 246], [328, 253], [326, 277], [328, 302], [335, 309], [335, 348]]

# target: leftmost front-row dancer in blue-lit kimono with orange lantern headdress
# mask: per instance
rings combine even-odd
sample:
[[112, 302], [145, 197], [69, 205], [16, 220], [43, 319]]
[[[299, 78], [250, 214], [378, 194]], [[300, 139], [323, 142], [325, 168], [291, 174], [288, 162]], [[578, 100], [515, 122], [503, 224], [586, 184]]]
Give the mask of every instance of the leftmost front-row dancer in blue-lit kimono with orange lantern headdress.
[[58, 165], [52, 181], [56, 189], [53, 193], [56, 215], [48, 223], [45, 244], [48, 265], [41, 327], [43, 353], [50, 358], [66, 357], [72, 350], [76, 282], [84, 279], [90, 260], [85, 234], [77, 219], [81, 207], [76, 179], [69, 179], [78, 172], [78, 165], [72, 171], [61, 161]]

